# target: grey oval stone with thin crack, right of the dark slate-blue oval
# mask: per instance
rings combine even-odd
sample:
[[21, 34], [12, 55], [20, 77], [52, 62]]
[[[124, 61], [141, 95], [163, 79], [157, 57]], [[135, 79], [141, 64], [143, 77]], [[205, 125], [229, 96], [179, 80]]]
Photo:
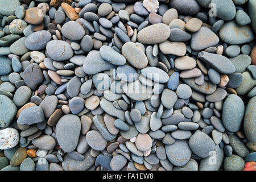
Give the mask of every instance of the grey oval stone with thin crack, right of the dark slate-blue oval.
[[73, 49], [63, 40], [51, 40], [46, 45], [46, 51], [56, 61], [68, 60], [73, 56]]

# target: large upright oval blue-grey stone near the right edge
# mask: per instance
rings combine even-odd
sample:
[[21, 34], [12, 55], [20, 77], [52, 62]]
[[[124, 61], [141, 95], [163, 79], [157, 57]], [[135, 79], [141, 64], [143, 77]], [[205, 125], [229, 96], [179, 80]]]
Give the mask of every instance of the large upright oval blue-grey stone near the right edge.
[[225, 128], [231, 132], [237, 132], [240, 129], [245, 105], [240, 97], [235, 94], [229, 95], [222, 110], [222, 122]]

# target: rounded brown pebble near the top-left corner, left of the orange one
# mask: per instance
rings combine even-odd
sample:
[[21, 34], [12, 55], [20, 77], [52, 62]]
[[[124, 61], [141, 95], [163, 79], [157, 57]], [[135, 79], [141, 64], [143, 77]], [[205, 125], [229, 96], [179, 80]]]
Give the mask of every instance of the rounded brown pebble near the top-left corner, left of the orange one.
[[40, 24], [44, 20], [43, 11], [37, 7], [31, 7], [25, 11], [24, 21], [30, 24]]

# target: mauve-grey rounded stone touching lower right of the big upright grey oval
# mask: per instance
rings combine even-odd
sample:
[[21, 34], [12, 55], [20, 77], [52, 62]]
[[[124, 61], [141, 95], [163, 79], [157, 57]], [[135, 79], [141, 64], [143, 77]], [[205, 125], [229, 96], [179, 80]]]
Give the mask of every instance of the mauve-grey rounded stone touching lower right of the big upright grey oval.
[[101, 133], [96, 130], [88, 131], [86, 134], [86, 142], [92, 147], [94, 150], [104, 150], [107, 144], [107, 140], [105, 140]]

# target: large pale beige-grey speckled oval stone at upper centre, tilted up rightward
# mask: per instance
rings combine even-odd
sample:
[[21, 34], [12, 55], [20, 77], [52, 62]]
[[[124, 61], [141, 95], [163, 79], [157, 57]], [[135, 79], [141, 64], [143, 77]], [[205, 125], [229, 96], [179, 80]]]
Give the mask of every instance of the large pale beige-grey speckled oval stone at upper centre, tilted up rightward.
[[170, 28], [166, 24], [156, 23], [139, 31], [137, 38], [142, 44], [158, 44], [167, 40], [170, 34]]

